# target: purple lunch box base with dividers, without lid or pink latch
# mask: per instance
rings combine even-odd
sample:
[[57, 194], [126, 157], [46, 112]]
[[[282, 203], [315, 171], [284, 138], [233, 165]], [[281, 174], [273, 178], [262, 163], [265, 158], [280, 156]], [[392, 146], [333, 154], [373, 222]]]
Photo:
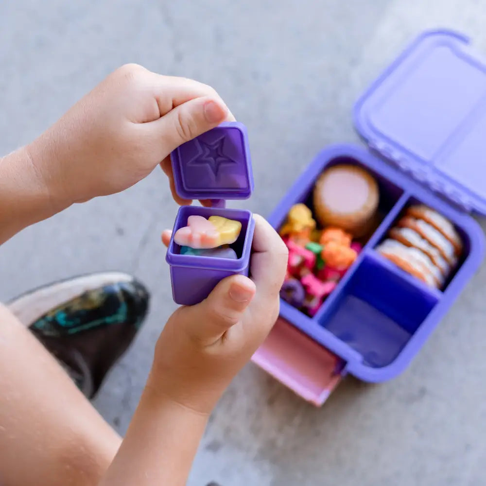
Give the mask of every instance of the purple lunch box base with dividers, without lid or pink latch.
[[[279, 228], [294, 204], [310, 204], [314, 180], [338, 163], [359, 165], [377, 177], [382, 222], [314, 317], [283, 300], [280, 317], [327, 348], [322, 352], [338, 356], [349, 374], [366, 382], [382, 382], [403, 371], [451, 307], [483, 260], [485, 238], [468, 214], [354, 145], [323, 150], [270, 216], [271, 225]], [[403, 209], [415, 202], [449, 218], [464, 239], [464, 258], [443, 292], [427, 287], [374, 250]]]

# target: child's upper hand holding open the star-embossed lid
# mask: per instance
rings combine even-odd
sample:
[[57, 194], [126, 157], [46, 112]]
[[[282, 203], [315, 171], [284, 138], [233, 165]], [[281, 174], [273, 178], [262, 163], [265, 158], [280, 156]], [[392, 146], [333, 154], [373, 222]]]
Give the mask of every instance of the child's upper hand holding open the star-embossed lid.
[[169, 154], [223, 121], [234, 121], [213, 88], [125, 65], [26, 148], [60, 209], [123, 191], [161, 164], [174, 192]]

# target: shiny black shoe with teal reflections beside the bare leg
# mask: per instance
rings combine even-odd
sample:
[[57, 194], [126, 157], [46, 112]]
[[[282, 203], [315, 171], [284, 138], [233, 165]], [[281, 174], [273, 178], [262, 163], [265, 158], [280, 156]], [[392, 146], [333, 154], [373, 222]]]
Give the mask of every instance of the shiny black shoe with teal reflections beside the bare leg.
[[148, 305], [147, 289], [118, 272], [56, 282], [8, 303], [90, 399], [132, 343]]

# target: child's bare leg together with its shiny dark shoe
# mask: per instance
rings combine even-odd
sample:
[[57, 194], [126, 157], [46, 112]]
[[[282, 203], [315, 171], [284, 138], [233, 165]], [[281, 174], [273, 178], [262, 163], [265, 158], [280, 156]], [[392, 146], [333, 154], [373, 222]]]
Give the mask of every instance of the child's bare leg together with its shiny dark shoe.
[[91, 396], [146, 312], [143, 287], [121, 277], [60, 282], [0, 306], [0, 484], [97, 485], [113, 459], [120, 437], [26, 327]]

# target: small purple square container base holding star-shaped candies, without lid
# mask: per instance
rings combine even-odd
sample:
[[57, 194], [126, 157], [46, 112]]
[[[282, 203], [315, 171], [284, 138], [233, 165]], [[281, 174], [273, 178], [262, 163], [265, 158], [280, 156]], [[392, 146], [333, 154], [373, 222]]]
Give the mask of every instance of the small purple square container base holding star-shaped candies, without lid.
[[[180, 246], [174, 243], [177, 229], [187, 226], [188, 217], [198, 215], [222, 216], [240, 221], [242, 230], [238, 240], [231, 245], [240, 257], [238, 260], [225, 258], [181, 255]], [[251, 243], [255, 221], [250, 211], [224, 208], [200, 208], [182, 206], [179, 208], [174, 223], [172, 238], [167, 248], [166, 260], [171, 269], [172, 292], [174, 301], [179, 305], [194, 305], [204, 300], [226, 277], [231, 275], [248, 276]]]

